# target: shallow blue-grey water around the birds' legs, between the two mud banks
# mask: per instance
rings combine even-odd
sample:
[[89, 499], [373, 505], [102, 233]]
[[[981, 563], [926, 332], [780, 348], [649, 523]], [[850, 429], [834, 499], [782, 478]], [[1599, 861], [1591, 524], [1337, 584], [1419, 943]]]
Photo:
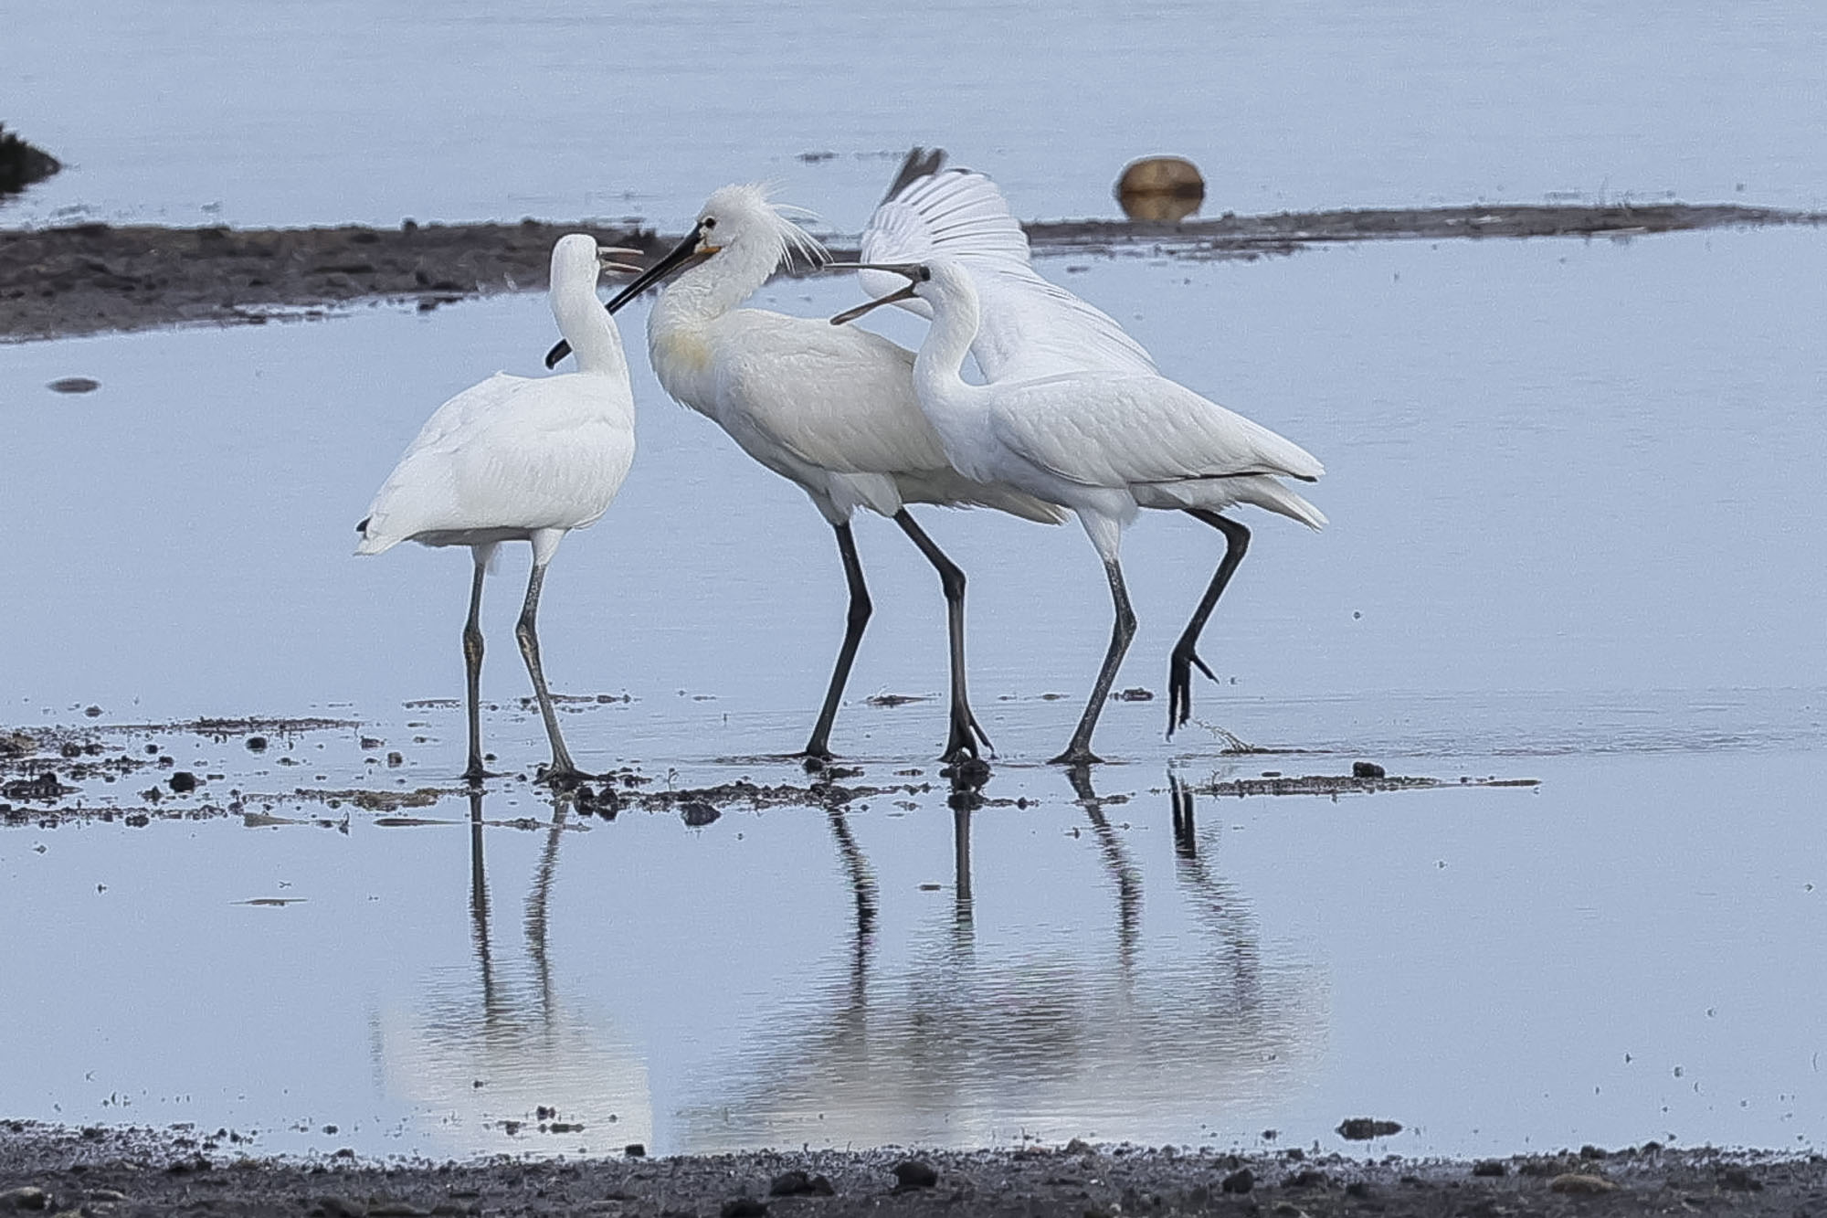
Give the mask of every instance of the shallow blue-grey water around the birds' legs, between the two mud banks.
[[[935, 582], [877, 519], [833, 744], [848, 781], [928, 790], [557, 832], [512, 779], [481, 830], [460, 796], [409, 827], [294, 794], [460, 766], [468, 567], [358, 561], [353, 523], [437, 401], [535, 369], [537, 296], [13, 347], [0, 518], [31, 527], [0, 717], [157, 744], [206, 779], [183, 807], [241, 817], [0, 828], [0, 973], [24, 978], [0, 993], [0, 1112], [435, 1156], [1332, 1147], [1346, 1116], [1403, 1121], [1378, 1150], [1416, 1154], [1818, 1149], [1823, 263], [1812, 230], [1047, 262], [1171, 375], [1319, 454], [1334, 525], [1253, 519], [1204, 649], [1222, 686], [1173, 743], [1160, 697], [1111, 704], [1122, 764], [1094, 794], [1122, 801], [1087, 808], [1038, 764], [1109, 629], [1082, 532], [926, 510], [970, 572], [985, 794], [1029, 801], [970, 816], [963, 871], [943, 704], [864, 702], [943, 689]], [[764, 304], [851, 300], [791, 282]], [[555, 688], [632, 700], [568, 704], [572, 748], [678, 786], [787, 781], [764, 753], [802, 743], [840, 633], [829, 534], [634, 362], [639, 459], [543, 607]], [[42, 388], [64, 375], [102, 388]], [[1124, 554], [1120, 684], [1160, 693], [1215, 540], [1146, 514]], [[524, 561], [486, 620], [486, 732], [517, 772], [544, 748], [508, 644]], [[360, 726], [258, 755], [130, 726], [248, 713]], [[1224, 733], [1303, 752], [1239, 759]], [[1175, 781], [1365, 757], [1542, 785], [1193, 796], [1191, 852], [1173, 832]], [[583, 1128], [541, 1132], [541, 1106]]]

